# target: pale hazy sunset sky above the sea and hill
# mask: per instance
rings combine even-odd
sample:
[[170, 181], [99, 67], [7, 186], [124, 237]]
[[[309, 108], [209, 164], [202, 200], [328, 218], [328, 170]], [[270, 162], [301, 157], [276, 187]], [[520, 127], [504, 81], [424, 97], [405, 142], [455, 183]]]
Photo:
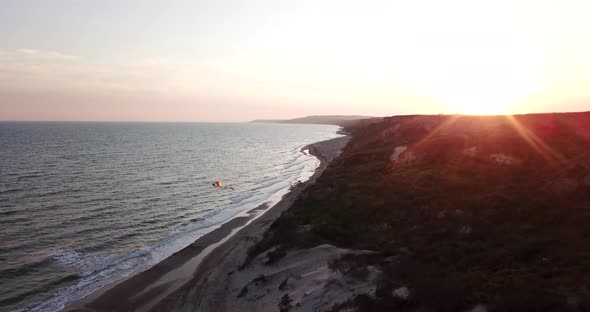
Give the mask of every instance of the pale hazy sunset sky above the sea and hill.
[[590, 1], [0, 0], [0, 120], [590, 110]]

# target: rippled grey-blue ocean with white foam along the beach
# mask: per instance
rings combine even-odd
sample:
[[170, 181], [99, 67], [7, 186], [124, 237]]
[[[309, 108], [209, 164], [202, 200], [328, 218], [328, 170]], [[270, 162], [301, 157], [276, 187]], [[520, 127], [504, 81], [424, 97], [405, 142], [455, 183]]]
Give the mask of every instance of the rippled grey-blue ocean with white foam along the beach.
[[0, 311], [60, 310], [278, 202], [319, 165], [301, 148], [337, 130], [0, 123]]

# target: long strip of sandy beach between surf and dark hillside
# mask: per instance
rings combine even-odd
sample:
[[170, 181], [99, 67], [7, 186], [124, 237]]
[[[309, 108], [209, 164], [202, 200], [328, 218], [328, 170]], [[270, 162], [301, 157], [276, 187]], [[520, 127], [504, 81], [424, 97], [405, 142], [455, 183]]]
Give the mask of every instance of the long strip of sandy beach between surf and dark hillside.
[[[302, 149], [320, 160], [313, 176], [296, 185], [271, 208], [261, 205], [239, 216], [155, 266], [109, 285], [66, 307], [66, 311], [222, 311], [229, 294], [224, 277], [243, 262], [247, 250], [270, 224], [289, 208], [299, 194], [313, 184], [336, 158], [350, 137], [308, 145]], [[227, 292], [226, 292], [227, 290]], [[205, 305], [202, 305], [205, 304]]]

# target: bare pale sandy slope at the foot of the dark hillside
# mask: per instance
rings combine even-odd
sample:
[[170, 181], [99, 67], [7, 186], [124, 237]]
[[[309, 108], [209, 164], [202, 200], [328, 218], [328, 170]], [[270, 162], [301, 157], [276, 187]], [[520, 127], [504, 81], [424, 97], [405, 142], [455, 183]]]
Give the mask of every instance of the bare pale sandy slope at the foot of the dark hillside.
[[[270, 252], [270, 251], [269, 251]], [[289, 252], [272, 265], [261, 254], [247, 269], [219, 279], [224, 292], [202, 301], [198, 311], [329, 311], [358, 294], [373, 294], [379, 271], [368, 267], [367, 275], [353, 278], [330, 267], [330, 262], [351, 251], [331, 245]], [[204, 297], [203, 299], [209, 299]]]

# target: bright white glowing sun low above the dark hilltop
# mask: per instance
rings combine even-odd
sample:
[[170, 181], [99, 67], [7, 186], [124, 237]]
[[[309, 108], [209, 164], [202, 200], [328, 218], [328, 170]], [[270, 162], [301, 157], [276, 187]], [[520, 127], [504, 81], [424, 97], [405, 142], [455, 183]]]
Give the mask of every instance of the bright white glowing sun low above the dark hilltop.
[[505, 42], [455, 42], [429, 51], [416, 62], [415, 91], [445, 113], [514, 113], [538, 88], [538, 66], [530, 49]]

